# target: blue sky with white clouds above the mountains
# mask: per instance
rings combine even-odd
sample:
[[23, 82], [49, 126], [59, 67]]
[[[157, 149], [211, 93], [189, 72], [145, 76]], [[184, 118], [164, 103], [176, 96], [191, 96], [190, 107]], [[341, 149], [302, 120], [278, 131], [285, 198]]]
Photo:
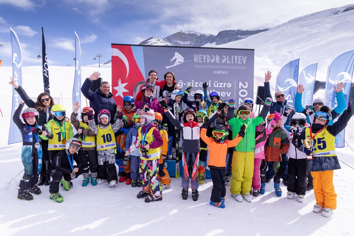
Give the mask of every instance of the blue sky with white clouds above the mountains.
[[0, 0], [0, 59], [11, 66], [10, 27], [18, 35], [23, 65], [41, 65], [41, 27], [50, 65], [74, 63], [74, 31], [81, 43], [82, 65], [99, 53], [111, 56], [111, 43], [138, 44], [180, 30], [217, 34], [227, 29], [275, 26], [292, 18], [351, 4], [350, 0], [140, 1], [140, 0]]

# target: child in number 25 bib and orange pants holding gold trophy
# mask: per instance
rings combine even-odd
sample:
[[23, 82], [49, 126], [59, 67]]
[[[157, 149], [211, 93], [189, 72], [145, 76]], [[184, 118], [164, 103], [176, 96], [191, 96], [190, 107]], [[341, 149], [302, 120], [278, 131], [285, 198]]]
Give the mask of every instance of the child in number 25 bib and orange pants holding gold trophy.
[[337, 194], [333, 185], [333, 170], [340, 169], [338, 157], [335, 149], [335, 137], [348, 124], [352, 117], [351, 104], [344, 110], [338, 120], [329, 125], [332, 117], [324, 111], [316, 111], [314, 122], [310, 127], [301, 133], [301, 139], [312, 140], [311, 149], [302, 147], [306, 155], [314, 156], [313, 160], [308, 160], [308, 168], [313, 177], [313, 190], [315, 192], [316, 204], [313, 212], [329, 217], [333, 210], [337, 208]]

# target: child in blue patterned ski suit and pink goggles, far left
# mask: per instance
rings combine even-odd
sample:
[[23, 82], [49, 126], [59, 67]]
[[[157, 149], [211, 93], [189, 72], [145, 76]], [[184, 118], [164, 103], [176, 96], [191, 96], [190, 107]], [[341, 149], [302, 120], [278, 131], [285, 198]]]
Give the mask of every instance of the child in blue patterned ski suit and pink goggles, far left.
[[[38, 125], [39, 113], [34, 108], [27, 108], [22, 113], [22, 120], [19, 118], [23, 109], [24, 102], [21, 101], [19, 107], [13, 114], [13, 122], [19, 128], [22, 134], [22, 154], [21, 159], [24, 167], [24, 174], [18, 185], [18, 199], [27, 201], [33, 200], [31, 192], [35, 195], [41, 194], [37, 186], [38, 175], [42, 163], [41, 140], [48, 139], [52, 134], [47, 132], [45, 126]], [[49, 177], [50, 179], [50, 177]]]

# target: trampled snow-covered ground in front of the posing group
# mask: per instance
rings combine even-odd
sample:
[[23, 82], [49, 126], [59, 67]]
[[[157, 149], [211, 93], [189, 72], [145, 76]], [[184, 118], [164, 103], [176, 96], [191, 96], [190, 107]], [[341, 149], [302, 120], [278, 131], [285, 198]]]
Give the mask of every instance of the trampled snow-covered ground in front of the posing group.
[[[10, 117], [0, 118], [1, 133], [8, 132]], [[49, 186], [42, 194], [26, 202], [17, 200], [17, 186], [22, 177], [21, 144], [6, 145], [0, 137], [0, 232], [1, 235], [352, 235], [354, 228], [354, 155], [349, 149], [337, 149], [342, 169], [335, 171], [337, 209], [329, 218], [312, 212], [313, 190], [303, 203], [276, 197], [273, 182], [266, 193], [251, 203], [239, 203], [227, 186], [225, 209], [209, 205], [212, 182], [199, 187], [199, 200], [181, 197], [181, 178], [172, 178], [171, 188], [163, 191], [160, 202], [145, 203], [136, 198], [139, 188], [118, 183], [60, 187], [64, 202], [49, 199]], [[345, 162], [347, 165], [345, 165]], [[191, 192], [190, 192], [191, 194]]]

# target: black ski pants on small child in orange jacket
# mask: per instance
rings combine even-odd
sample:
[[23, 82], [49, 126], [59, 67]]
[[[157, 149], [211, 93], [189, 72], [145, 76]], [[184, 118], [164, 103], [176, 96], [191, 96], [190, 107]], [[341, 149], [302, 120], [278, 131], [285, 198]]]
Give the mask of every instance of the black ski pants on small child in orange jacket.
[[210, 200], [213, 202], [220, 202], [221, 197], [226, 195], [226, 177], [225, 169], [217, 169], [210, 167], [211, 180], [213, 181], [213, 188], [211, 190]]

